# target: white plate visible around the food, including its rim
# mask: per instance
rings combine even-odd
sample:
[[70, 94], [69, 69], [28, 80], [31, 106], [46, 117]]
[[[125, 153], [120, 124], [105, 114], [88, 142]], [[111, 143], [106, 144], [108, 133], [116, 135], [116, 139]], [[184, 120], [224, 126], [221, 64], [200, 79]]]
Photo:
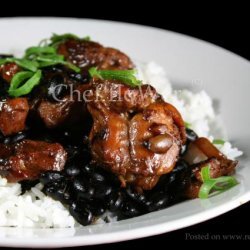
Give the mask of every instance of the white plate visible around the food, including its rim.
[[155, 28], [116, 22], [15, 18], [0, 20], [0, 51], [20, 52], [52, 32], [90, 35], [141, 61], [163, 65], [176, 85], [202, 83], [220, 100], [229, 137], [245, 152], [238, 171], [240, 185], [209, 200], [190, 200], [159, 212], [113, 224], [75, 229], [0, 228], [0, 245], [66, 247], [123, 241], [173, 231], [223, 214], [250, 200], [250, 63], [212, 44]]

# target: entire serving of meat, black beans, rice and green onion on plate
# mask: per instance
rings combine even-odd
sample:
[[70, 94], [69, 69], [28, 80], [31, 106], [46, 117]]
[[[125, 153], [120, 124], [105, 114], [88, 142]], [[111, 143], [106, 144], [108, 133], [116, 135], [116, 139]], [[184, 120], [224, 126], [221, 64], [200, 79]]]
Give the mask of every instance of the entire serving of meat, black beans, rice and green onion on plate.
[[[166, 81], [162, 69], [137, 65], [139, 76], [135, 65], [73, 34], [54, 34], [22, 58], [0, 55], [1, 226], [132, 218], [237, 184], [241, 152], [209, 137], [206, 93], [161, 95], [151, 79]], [[208, 111], [185, 110], [192, 99]]]

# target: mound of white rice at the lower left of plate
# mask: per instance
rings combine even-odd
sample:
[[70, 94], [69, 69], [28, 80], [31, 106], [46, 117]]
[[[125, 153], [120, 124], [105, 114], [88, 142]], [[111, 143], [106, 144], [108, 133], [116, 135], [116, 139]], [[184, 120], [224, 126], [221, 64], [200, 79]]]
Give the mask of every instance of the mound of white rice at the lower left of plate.
[[74, 227], [75, 220], [58, 201], [41, 192], [37, 184], [21, 194], [21, 185], [0, 177], [0, 226], [60, 228]]

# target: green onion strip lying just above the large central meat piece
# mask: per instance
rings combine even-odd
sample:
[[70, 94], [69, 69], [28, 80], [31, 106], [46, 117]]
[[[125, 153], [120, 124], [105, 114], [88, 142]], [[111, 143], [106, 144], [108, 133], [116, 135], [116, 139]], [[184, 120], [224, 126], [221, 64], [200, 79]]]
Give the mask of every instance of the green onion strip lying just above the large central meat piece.
[[89, 69], [91, 77], [104, 80], [119, 80], [132, 87], [140, 86], [142, 82], [135, 77], [136, 70], [98, 70], [93, 67]]

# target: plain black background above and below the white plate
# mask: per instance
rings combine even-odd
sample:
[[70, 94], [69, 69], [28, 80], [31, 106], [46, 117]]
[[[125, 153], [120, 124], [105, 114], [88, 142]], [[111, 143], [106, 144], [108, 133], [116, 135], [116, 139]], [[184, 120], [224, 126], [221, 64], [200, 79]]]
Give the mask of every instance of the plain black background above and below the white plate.
[[[165, 2], [162, 5], [154, 0], [151, 3], [143, 4], [139, 8], [135, 2], [119, 2], [118, 0], [111, 4], [108, 4], [108, 2], [100, 3], [99, 1], [92, 1], [88, 2], [88, 5], [84, 3], [84, 5], [79, 6], [73, 6], [70, 3], [64, 2], [51, 8], [51, 2], [46, 3], [46, 1], [43, 1], [40, 3], [40, 6], [31, 9], [31, 6], [25, 8], [22, 2], [20, 3], [22, 11], [19, 13], [16, 12], [19, 8], [17, 6], [18, 3], [15, 3], [15, 10], [6, 8], [1, 15], [63, 16], [138, 23], [194, 36], [224, 47], [248, 60], [250, 59], [250, 15], [247, 13], [247, 6], [243, 6], [240, 1], [237, 1], [237, 4], [234, 3], [233, 6], [229, 6], [229, 3], [226, 6], [206, 5], [203, 3], [202, 6], [194, 5], [195, 8], [190, 3], [188, 5], [183, 5], [181, 2], [176, 3], [178, 6], [173, 7], [169, 2]], [[209, 234], [210, 238], [212, 235], [217, 234], [221, 238], [223, 235], [228, 234], [250, 235], [249, 211], [250, 203], [215, 219], [189, 228], [146, 239], [106, 246], [94, 246], [90, 247], [90, 249], [111, 250], [141, 247], [148, 244], [156, 244], [156, 246], [164, 246], [165, 244], [167, 247], [169, 240], [190, 241], [187, 239], [187, 234], [203, 234], [205, 236]]]

